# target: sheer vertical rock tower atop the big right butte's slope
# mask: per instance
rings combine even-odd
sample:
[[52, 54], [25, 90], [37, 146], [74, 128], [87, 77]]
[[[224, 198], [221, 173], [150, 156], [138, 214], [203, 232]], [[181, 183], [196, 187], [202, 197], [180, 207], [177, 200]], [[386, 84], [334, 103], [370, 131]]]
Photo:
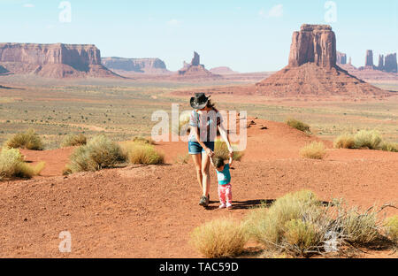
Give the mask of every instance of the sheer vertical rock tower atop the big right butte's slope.
[[289, 66], [297, 67], [315, 63], [320, 67], [336, 65], [336, 36], [328, 25], [302, 25], [293, 33], [290, 47]]

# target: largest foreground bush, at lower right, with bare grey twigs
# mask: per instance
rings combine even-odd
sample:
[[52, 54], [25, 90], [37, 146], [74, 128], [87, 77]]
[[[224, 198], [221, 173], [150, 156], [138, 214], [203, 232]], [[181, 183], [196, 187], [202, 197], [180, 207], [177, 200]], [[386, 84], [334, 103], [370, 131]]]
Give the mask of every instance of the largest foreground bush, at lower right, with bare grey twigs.
[[[293, 256], [343, 252], [351, 244], [367, 245], [381, 236], [378, 211], [359, 212], [342, 201], [326, 206], [310, 191], [287, 194], [249, 212], [249, 235], [264, 248]], [[343, 246], [344, 245], [344, 246]]]

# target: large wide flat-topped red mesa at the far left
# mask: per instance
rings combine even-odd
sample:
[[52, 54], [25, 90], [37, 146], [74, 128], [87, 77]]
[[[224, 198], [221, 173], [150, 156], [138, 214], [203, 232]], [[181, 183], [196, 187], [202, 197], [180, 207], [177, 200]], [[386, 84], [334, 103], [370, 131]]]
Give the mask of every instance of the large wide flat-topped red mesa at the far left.
[[119, 77], [101, 64], [100, 50], [91, 44], [0, 43], [0, 66], [49, 78]]

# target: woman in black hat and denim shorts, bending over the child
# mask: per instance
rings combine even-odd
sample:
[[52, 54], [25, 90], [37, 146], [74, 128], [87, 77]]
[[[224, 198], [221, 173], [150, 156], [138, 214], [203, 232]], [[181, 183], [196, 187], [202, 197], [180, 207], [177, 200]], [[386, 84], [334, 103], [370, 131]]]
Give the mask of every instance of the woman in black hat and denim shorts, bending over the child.
[[210, 200], [210, 157], [214, 155], [217, 129], [226, 142], [230, 157], [233, 156], [233, 148], [226, 129], [222, 126], [221, 114], [214, 107], [214, 103], [210, 102], [209, 97], [204, 93], [196, 93], [195, 97], [190, 99], [190, 104], [194, 110], [189, 119], [191, 131], [188, 139], [188, 151], [194, 160], [196, 177], [203, 191], [199, 205], [206, 207]]

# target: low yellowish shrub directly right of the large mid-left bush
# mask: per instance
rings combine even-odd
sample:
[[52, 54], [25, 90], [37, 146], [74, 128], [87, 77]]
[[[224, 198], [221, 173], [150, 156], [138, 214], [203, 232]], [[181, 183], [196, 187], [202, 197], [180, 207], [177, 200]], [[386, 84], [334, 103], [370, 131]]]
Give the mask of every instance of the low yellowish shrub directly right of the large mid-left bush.
[[165, 156], [152, 145], [142, 142], [125, 142], [122, 150], [131, 164], [160, 165], [165, 163]]

